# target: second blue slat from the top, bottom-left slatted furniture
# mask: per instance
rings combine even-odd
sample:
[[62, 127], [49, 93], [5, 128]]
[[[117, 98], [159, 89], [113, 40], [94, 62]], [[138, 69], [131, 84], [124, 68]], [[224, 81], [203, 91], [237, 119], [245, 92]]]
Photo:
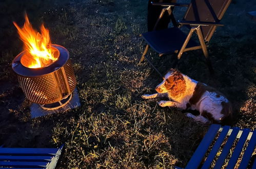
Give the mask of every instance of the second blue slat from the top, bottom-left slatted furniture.
[[0, 156], [0, 161], [51, 161], [54, 156]]

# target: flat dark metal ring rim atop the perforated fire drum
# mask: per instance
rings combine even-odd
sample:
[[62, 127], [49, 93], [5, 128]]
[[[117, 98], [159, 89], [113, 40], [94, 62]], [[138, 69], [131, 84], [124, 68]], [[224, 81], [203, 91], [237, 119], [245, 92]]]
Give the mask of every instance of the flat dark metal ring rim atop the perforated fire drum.
[[52, 44], [52, 47], [56, 48], [60, 52], [60, 55], [58, 56], [58, 59], [54, 61], [51, 65], [42, 68], [25, 67], [21, 63], [21, 58], [25, 53], [25, 51], [22, 51], [12, 61], [13, 71], [23, 77], [38, 77], [42, 75], [47, 75], [49, 73], [57, 71], [58, 69], [61, 69], [62, 66], [65, 65], [69, 60], [69, 52], [61, 45]]

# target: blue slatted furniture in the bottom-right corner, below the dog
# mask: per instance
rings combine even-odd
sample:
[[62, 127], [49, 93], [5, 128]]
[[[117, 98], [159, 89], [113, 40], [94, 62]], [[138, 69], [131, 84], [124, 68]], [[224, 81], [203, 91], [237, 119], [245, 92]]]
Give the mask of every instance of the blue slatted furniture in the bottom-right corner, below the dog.
[[[218, 138], [216, 138], [215, 143], [213, 144], [211, 150], [209, 150], [211, 143], [213, 142], [216, 135], [220, 132]], [[247, 165], [251, 159], [252, 153], [255, 149], [256, 144], [256, 131], [250, 131], [250, 129], [242, 129], [240, 130], [237, 127], [230, 128], [230, 126], [223, 126], [221, 127], [220, 124], [212, 124], [205, 134], [203, 140], [199, 144], [198, 148], [195, 150], [193, 156], [189, 160], [188, 164], [185, 168], [210, 168], [213, 159], [215, 158], [216, 154], [218, 153], [224, 139], [228, 136], [228, 139], [221, 151], [220, 156], [215, 162], [213, 168], [222, 168], [225, 159], [227, 158], [228, 154], [230, 153], [230, 149], [235, 141], [238, 138], [238, 142], [235, 145], [233, 152], [231, 153], [231, 158], [228, 161], [228, 164], [225, 168], [231, 169], [234, 168], [235, 164], [238, 161], [238, 158], [243, 150], [246, 140], [249, 140], [246, 150], [243, 154], [242, 160], [239, 164], [239, 169], [247, 168]], [[207, 151], [210, 151], [206, 160], [203, 161], [205, 154]], [[175, 168], [180, 168], [176, 167]], [[256, 160], [252, 164], [252, 168], [256, 168]]]

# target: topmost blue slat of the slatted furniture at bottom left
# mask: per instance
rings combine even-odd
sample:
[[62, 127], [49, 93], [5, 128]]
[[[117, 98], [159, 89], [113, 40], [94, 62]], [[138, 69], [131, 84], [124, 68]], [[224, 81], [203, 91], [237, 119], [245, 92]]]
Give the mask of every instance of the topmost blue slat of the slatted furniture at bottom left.
[[58, 149], [45, 148], [0, 148], [0, 155], [55, 155]]

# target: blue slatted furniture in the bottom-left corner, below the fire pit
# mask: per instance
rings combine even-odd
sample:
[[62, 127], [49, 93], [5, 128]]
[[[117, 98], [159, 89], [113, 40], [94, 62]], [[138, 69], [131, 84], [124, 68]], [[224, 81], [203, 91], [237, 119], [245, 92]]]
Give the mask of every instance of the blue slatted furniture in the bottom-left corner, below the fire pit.
[[58, 149], [0, 147], [0, 168], [55, 168], [64, 144]]

